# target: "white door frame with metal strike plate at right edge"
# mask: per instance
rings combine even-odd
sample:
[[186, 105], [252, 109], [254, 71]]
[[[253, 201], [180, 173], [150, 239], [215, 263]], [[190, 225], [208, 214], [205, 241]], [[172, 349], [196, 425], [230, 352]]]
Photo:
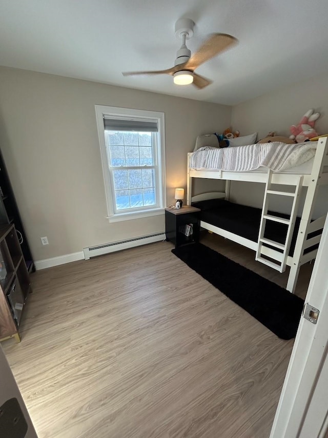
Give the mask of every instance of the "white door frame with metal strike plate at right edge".
[[[317, 324], [301, 317], [270, 438], [324, 438], [328, 427], [328, 218], [305, 302]], [[324, 382], [324, 384], [322, 384]]]

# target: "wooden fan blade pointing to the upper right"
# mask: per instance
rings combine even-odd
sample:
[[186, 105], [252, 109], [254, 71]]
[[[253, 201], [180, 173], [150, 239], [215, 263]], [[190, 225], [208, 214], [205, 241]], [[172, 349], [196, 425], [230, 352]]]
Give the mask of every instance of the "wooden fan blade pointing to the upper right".
[[227, 33], [213, 33], [209, 39], [192, 55], [185, 68], [195, 70], [198, 66], [209, 61], [213, 56], [237, 44], [238, 40]]

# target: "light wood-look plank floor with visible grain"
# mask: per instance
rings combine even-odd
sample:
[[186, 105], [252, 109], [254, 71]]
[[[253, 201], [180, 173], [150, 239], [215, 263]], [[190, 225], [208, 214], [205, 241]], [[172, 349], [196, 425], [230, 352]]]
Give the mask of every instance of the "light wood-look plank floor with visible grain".
[[[286, 275], [218, 236], [204, 243]], [[283, 341], [158, 242], [32, 274], [22, 342], [3, 348], [39, 438], [267, 438]], [[304, 294], [311, 266], [304, 266]]]

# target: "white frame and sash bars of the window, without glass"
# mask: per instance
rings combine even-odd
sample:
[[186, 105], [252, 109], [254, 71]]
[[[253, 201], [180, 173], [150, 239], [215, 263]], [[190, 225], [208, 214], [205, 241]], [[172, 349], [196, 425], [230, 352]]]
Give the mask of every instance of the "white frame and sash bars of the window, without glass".
[[[150, 216], [156, 216], [165, 213], [166, 206], [166, 165], [165, 165], [165, 115], [163, 112], [148, 111], [132, 108], [120, 108], [114, 106], [95, 105], [96, 121], [98, 128], [98, 137], [100, 145], [101, 163], [103, 167], [103, 176], [105, 183], [105, 194], [107, 204], [107, 219], [109, 222], [117, 222], [122, 220], [138, 219]], [[113, 169], [120, 167], [112, 167], [108, 161], [106, 138], [104, 128], [104, 116], [113, 118], [127, 118], [135, 119], [154, 119], [157, 121], [158, 133], [156, 134], [156, 145], [153, 145], [155, 152], [155, 165], [149, 166], [155, 168], [156, 181], [156, 197], [158, 199], [156, 206], [142, 206], [132, 207], [122, 212], [115, 212], [115, 189], [111, 173]], [[152, 133], [152, 136], [155, 133]], [[124, 166], [126, 169], [134, 166]], [[148, 168], [148, 166], [135, 166], [141, 168]], [[111, 170], [110, 170], [111, 169]]]

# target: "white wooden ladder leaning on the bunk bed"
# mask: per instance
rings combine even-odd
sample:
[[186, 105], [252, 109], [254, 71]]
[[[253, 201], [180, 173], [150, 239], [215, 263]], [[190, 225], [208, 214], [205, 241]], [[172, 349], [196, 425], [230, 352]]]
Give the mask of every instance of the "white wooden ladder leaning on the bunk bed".
[[[298, 177], [297, 183], [295, 185], [295, 192], [283, 192], [283, 191], [277, 191], [271, 189], [272, 184], [272, 170], [268, 169], [268, 179], [267, 184], [265, 185], [265, 193], [264, 193], [264, 200], [263, 200], [263, 208], [262, 208], [262, 214], [261, 214], [261, 222], [260, 222], [260, 230], [259, 230], [259, 238], [258, 238], [258, 246], [256, 251], [256, 257], [255, 259], [257, 261], [260, 261], [261, 263], [267, 264], [273, 269], [276, 269], [279, 272], [284, 272], [286, 269], [286, 260], [289, 255], [289, 250], [291, 246], [293, 231], [294, 231], [294, 225], [295, 225], [295, 219], [297, 215], [297, 207], [299, 204], [300, 199], [300, 192], [302, 188], [302, 180], [303, 176]], [[289, 196], [293, 198], [293, 205], [291, 209], [291, 214], [289, 219], [281, 218], [279, 216], [273, 216], [268, 214], [269, 209], [269, 197], [268, 195], [277, 195], [277, 196]], [[286, 239], [284, 243], [275, 242], [273, 240], [267, 239], [264, 237], [265, 233], [265, 225], [267, 224], [267, 221], [275, 221], [280, 222], [288, 225], [287, 233], [286, 233]], [[263, 257], [263, 244], [269, 245], [271, 247], [274, 247], [275, 249], [280, 250], [279, 256], [277, 258], [275, 256], [270, 257], [277, 261], [271, 261], [267, 258]]]

